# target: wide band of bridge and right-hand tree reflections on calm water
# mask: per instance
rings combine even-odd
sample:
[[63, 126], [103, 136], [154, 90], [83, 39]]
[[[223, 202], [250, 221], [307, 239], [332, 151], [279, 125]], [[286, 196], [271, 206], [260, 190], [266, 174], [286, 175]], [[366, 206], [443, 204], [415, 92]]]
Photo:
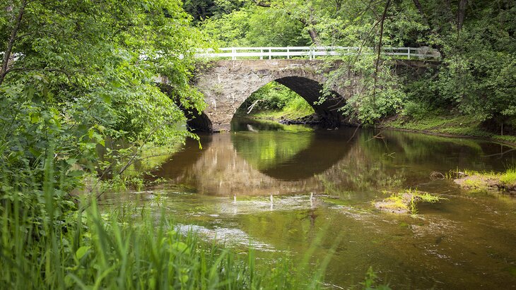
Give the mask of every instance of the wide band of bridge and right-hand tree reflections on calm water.
[[[500, 150], [498, 145], [401, 132], [385, 132], [378, 140], [365, 130], [348, 142], [354, 131], [205, 135], [203, 150], [190, 140], [153, 174], [206, 195], [266, 196], [375, 194], [428, 183], [432, 171], [505, 170], [503, 162], [490, 157]], [[471, 159], [479, 154], [486, 157]]]

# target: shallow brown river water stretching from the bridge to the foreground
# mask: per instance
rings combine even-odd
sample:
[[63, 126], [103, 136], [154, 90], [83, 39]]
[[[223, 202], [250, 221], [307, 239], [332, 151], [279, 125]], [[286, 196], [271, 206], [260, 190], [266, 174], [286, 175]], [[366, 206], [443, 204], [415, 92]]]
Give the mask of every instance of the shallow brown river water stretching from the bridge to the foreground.
[[[187, 142], [152, 173], [165, 183], [123, 198], [166, 209], [180, 231], [193, 226], [264, 257], [301, 260], [315, 246], [313, 262], [331, 257], [329, 285], [356, 285], [373, 266], [395, 289], [516, 288], [516, 198], [430, 179], [433, 171], [503, 171], [516, 150], [397, 131], [233, 129], [201, 136], [202, 150]], [[375, 210], [382, 191], [403, 188], [447, 200], [418, 205], [416, 216]]]

